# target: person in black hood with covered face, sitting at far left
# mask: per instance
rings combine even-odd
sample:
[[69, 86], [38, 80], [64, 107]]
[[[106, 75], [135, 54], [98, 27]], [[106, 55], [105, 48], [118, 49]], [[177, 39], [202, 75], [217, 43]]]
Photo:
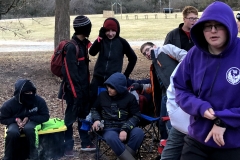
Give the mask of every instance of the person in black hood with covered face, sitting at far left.
[[36, 94], [36, 87], [30, 80], [19, 79], [15, 83], [14, 96], [0, 108], [0, 122], [7, 125], [4, 160], [14, 160], [19, 149], [21, 133], [26, 135], [29, 143], [29, 158], [38, 159], [38, 135], [35, 127], [48, 121], [49, 111], [43, 98]]

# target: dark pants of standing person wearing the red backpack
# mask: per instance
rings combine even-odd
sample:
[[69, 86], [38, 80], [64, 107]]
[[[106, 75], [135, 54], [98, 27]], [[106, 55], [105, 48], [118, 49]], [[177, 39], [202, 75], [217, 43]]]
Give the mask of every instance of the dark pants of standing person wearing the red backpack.
[[[64, 147], [66, 151], [73, 150], [74, 146], [74, 140], [73, 140], [73, 123], [78, 119], [78, 111], [76, 108], [73, 108], [73, 96], [71, 93], [66, 92], [65, 93], [65, 99], [67, 103], [67, 108], [65, 111], [65, 117], [64, 117], [64, 122], [65, 125], [67, 126], [67, 130], [65, 131], [64, 135]], [[82, 148], [85, 148], [86, 146], [91, 144], [91, 138], [90, 135], [88, 134], [88, 131], [84, 130], [79, 130], [81, 128], [82, 123], [78, 121], [78, 132], [79, 136], [81, 139], [81, 145]]]

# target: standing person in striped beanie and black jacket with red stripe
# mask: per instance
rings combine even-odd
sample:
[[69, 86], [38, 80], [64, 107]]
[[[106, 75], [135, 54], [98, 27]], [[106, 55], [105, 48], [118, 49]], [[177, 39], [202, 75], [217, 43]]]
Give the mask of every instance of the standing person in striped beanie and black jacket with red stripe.
[[[91, 32], [91, 21], [86, 16], [77, 16], [73, 21], [75, 30], [72, 36], [74, 43], [68, 43], [64, 49], [66, 56], [62, 67], [63, 80], [60, 86], [59, 98], [66, 100], [67, 108], [65, 110], [64, 122], [67, 126], [65, 131], [65, 156], [73, 157], [73, 123], [78, 119], [85, 119], [89, 114], [89, 57], [88, 47], [91, 42], [86, 38]], [[78, 54], [77, 53], [78, 50]], [[78, 57], [76, 57], [78, 55]], [[78, 128], [81, 128], [82, 122], [78, 121]], [[95, 150], [91, 142], [88, 131], [80, 130], [81, 150]]]

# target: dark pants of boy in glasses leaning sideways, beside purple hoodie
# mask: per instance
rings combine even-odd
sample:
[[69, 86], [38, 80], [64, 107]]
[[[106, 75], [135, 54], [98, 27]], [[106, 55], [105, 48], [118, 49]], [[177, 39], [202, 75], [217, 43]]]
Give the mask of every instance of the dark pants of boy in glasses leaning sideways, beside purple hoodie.
[[[165, 95], [165, 96], [162, 96], [160, 118], [168, 116], [166, 103], [167, 103], [167, 96]], [[168, 138], [168, 130], [170, 130], [171, 127], [172, 126], [171, 126], [170, 121], [164, 122], [164, 121], [160, 120], [159, 130], [160, 130], [161, 139]]]

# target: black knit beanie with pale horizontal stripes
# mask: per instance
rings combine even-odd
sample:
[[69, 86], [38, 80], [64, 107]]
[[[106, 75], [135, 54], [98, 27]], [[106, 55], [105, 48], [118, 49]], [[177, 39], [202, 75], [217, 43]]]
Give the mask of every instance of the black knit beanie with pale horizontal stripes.
[[73, 21], [73, 28], [76, 35], [82, 34], [86, 37], [89, 37], [92, 23], [86, 16], [77, 16]]

